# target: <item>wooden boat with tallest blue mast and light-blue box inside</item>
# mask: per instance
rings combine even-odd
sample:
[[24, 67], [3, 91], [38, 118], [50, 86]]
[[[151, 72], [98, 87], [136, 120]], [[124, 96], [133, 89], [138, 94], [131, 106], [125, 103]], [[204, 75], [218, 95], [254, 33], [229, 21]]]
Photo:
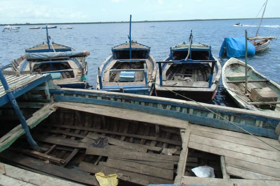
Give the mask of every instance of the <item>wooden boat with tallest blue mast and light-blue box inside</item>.
[[101, 64], [96, 89], [151, 95], [156, 72], [156, 61], [150, 54], [150, 47], [131, 41], [129, 36], [129, 43], [112, 47], [112, 54]]

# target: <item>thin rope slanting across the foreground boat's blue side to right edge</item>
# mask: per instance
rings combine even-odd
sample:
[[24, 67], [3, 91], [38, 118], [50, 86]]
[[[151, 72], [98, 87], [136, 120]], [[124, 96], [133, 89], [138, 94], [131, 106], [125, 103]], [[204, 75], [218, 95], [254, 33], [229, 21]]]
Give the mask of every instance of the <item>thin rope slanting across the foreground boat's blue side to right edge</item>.
[[[156, 84], [157, 86], [160, 86], [160, 85], [158, 85], [157, 83], [155, 83], [155, 84]], [[167, 89], [167, 88], [165, 88], [165, 87], [163, 87], [163, 86], [160, 86], [160, 87], [166, 89], [167, 91], [170, 91], [170, 92], [172, 92], [172, 93], [175, 93], [174, 91], [169, 90], [169, 89]], [[255, 136], [254, 134], [252, 134], [252, 133], [250, 133], [249, 131], [245, 130], [244, 128], [238, 126], [237, 124], [234, 124], [233, 122], [228, 121], [226, 118], [224, 118], [223, 116], [218, 115], [216, 112], [212, 111], [211, 109], [208, 109], [207, 107], [205, 107], [205, 106], [202, 105], [201, 103], [199, 103], [199, 102], [197, 102], [197, 101], [194, 101], [193, 99], [191, 99], [191, 98], [189, 98], [189, 97], [186, 97], [186, 96], [184, 96], [184, 95], [181, 95], [181, 94], [179, 94], [179, 93], [175, 93], [175, 94], [177, 94], [177, 95], [179, 95], [179, 96], [181, 96], [181, 97], [184, 97], [184, 98], [186, 98], [186, 99], [188, 99], [188, 100], [191, 100], [191, 101], [195, 102], [196, 104], [200, 105], [201, 107], [207, 109], [208, 111], [212, 112], [213, 114], [215, 114], [215, 115], [219, 116], [220, 118], [224, 119], [226, 122], [228, 122], [228, 123], [230, 123], [230, 124], [233, 124], [233, 125], [236, 126], [237, 128], [243, 130], [245, 133], [247, 133], [247, 134], [253, 136], [253, 137], [256, 138], [257, 140], [262, 141], [263, 143], [267, 144], [268, 146], [270, 146], [270, 147], [272, 147], [272, 148], [274, 148], [274, 149], [276, 149], [277, 151], [280, 152], [280, 149], [275, 148], [274, 146], [270, 145], [269, 143], [265, 142], [264, 140], [260, 139], [259, 137]]]

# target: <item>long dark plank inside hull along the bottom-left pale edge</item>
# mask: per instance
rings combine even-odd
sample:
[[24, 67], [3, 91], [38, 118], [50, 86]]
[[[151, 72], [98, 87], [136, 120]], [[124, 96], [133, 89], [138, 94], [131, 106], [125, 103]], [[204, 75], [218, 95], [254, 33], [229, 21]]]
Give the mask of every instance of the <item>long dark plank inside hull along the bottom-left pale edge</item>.
[[79, 183], [89, 184], [98, 186], [98, 182], [94, 176], [88, 175], [84, 172], [73, 171], [69, 169], [65, 169], [63, 167], [59, 167], [50, 163], [44, 163], [43, 161], [30, 158], [24, 155], [18, 155], [12, 153], [10, 151], [4, 151], [0, 154], [0, 157], [17, 163], [19, 165], [23, 165], [38, 171], [46, 172], [58, 177], [62, 177], [69, 180], [74, 180]]

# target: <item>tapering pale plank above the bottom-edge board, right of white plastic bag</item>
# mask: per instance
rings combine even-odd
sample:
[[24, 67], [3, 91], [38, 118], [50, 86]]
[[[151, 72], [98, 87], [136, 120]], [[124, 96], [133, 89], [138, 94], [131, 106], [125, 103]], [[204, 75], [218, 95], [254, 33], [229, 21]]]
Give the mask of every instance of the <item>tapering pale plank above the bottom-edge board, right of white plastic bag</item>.
[[257, 172], [247, 171], [236, 167], [227, 166], [227, 173], [230, 175], [238, 176], [250, 180], [280, 180], [280, 178], [267, 176]]

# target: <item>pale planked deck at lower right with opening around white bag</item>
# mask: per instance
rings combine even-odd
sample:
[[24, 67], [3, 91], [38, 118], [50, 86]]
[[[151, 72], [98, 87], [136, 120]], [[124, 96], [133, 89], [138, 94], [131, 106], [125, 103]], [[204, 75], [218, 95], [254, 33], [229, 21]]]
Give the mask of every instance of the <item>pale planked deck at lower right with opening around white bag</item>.
[[[183, 147], [219, 155], [223, 179], [187, 176], [188, 169], [181, 168], [175, 183], [206, 184], [207, 186], [277, 186], [280, 184], [280, 143], [251, 135], [190, 124], [185, 132]], [[185, 150], [188, 152], [188, 150]], [[188, 154], [187, 152], [181, 152]], [[188, 161], [189, 157], [186, 157]], [[181, 159], [181, 157], [180, 157]], [[179, 168], [178, 168], [179, 169]], [[241, 179], [237, 179], [241, 178]]]

